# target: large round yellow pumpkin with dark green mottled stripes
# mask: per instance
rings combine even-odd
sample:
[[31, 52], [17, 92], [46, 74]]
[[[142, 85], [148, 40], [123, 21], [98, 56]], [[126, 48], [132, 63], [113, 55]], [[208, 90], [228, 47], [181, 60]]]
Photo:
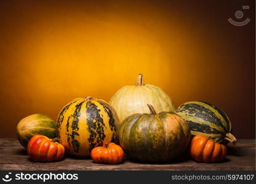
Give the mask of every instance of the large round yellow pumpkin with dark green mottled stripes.
[[66, 104], [57, 118], [56, 136], [73, 156], [90, 156], [94, 147], [118, 142], [119, 118], [102, 99], [77, 98]]

